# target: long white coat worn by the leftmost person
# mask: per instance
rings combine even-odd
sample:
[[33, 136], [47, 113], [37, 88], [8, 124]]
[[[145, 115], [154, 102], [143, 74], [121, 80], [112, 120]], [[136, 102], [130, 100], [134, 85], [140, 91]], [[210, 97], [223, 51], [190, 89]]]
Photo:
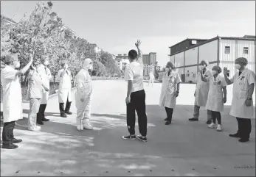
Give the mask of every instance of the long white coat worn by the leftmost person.
[[16, 72], [8, 65], [1, 70], [4, 123], [22, 119], [21, 84]]

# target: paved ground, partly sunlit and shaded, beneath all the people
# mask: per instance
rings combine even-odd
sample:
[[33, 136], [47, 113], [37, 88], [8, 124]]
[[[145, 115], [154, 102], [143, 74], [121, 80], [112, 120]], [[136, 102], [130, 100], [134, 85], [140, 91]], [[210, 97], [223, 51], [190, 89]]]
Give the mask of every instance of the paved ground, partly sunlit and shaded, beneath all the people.
[[75, 114], [60, 118], [56, 97], [46, 108], [51, 121], [41, 132], [27, 131], [29, 106], [24, 104], [25, 118], [15, 127], [23, 142], [15, 150], [1, 149], [1, 176], [255, 176], [255, 120], [250, 142], [228, 136], [237, 129], [228, 114], [232, 87], [222, 113], [224, 131], [217, 132], [207, 128], [204, 108], [201, 121], [187, 120], [193, 116], [195, 84], [181, 84], [170, 126], [165, 126], [165, 111], [158, 106], [161, 84], [145, 84], [146, 143], [121, 139], [127, 134], [126, 88], [124, 81], [94, 82], [94, 131], [77, 131]]

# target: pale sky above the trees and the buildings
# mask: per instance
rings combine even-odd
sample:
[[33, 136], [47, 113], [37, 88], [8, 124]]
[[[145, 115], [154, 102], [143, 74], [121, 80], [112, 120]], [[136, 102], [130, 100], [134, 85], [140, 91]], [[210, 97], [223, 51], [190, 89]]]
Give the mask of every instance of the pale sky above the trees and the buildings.
[[[38, 1], [1, 1], [1, 14], [20, 21]], [[255, 35], [255, 1], [52, 1], [52, 10], [78, 37], [111, 54], [156, 52], [160, 66], [169, 46], [188, 38]], [[13, 16], [14, 15], [14, 16]]]

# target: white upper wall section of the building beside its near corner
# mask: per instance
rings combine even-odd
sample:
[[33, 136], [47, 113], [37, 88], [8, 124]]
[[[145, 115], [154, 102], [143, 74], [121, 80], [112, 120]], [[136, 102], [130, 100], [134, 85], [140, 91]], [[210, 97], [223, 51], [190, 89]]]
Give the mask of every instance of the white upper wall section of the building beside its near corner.
[[199, 62], [201, 59], [206, 59], [208, 62], [217, 61], [217, 59], [218, 59], [218, 40], [213, 40], [210, 43], [206, 43], [202, 46], [199, 46]]

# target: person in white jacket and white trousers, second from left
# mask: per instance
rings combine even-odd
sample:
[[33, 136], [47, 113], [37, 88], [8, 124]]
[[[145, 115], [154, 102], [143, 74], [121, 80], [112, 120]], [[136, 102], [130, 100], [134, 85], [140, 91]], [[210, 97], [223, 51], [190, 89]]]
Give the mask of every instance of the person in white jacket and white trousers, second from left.
[[39, 131], [41, 130], [40, 126], [36, 125], [36, 116], [40, 107], [40, 101], [42, 98], [42, 89], [49, 91], [47, 84], [44, 84], [41, 76], [37, 71], [39, 61], [35, 61], [31, 65], [31, 70], [28, 75], [28, 92], [30, 98], [30, 112], [27, 119], [27, 129], [30, 131]]

